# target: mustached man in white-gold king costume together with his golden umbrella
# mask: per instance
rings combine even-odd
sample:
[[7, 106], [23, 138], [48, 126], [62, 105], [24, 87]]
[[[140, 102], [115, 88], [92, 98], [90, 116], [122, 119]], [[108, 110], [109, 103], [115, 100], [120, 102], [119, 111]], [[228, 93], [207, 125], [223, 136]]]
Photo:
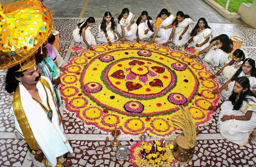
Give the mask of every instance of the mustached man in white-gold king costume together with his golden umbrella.
[[73, 151], [52, 82], [40, 76], [34, 56], [52, 34], [52, 14], [41, 2], [25, 0], [1, 7], [0, 20], [0, 69], [9, 68], [6, 90], [14, 92], [10, 114], [15, 128], [27, 141], [35, 167], [71, 167], [62, 163], [63, 155]]

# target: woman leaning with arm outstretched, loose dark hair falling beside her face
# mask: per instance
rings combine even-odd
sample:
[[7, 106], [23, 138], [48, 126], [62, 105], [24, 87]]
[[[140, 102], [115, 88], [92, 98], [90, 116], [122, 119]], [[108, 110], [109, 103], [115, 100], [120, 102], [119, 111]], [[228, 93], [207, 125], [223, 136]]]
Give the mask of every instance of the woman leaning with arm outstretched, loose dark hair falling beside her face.
[[[213, 50], [210, 50], [213, 46], [217, 47], [215, 47]], [[228, 56], [233, 50], [233, 42], [226, 34], [221, 34], [213, 38], [209, 46], [207, 46], [199, 53], [190, 56], [190, 58], [195, 58], [196, 56], [199, 56], [208, 50], [210, 51], [204, 56], [204, 61], [209, 62], [214, 66], [219, 66], [219, 64], [224, 64], [228, 61]]]

